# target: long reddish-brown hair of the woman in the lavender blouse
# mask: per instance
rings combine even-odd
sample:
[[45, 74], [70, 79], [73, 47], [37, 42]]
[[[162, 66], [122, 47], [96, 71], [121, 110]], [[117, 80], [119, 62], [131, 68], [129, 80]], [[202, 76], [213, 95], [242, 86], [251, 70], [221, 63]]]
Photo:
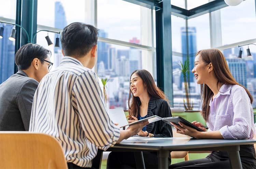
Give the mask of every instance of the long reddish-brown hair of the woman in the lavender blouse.
[[[204, 49], [204, 50], [198, 51], [196, 55], [198, 55], [198, 54], [200, 54], [200, 57], [202, 58], [202, 61], [205, 64], [212, 63], [213, 72], [214, 72], [216, 78], [218, 79], [218, 83], [221, 82], [223, 84], [228, 84], [228, 85], [242, 86], [241, 84], [237, 83], [237, 81], [232, 76], [232, 74], [228, 68], [227, 61], [220, 50]], [[217, 86], [218, 86], [218, 83], [217, 83]], [[253, 102], [252, 95], [244, 86], [242, 86], [242, 87], [246, 90], [246, 92], [251, 100], [251, 103], [252, 103]], [[209, 86], [207, 86], [206, 84], [201, 84], [201, 98], [203, 101], [201, 114], [202, 114], [204, 120], [206, 120], [206, 121], [208, 119], [208, 115], [209, 115], [209, 111], [210, 111], [209, 103], [210, 103], [212, 96], [213, 96], [213, 92], [209, 88]]]

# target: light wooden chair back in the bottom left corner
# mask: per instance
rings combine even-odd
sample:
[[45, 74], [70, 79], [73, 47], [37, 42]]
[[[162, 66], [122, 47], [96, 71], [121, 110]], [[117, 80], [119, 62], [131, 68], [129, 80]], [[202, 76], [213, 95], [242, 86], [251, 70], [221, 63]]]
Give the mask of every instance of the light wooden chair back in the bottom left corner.
[[0, 132], [0, 169], [67, 169], [59, 142], [33, 132]]

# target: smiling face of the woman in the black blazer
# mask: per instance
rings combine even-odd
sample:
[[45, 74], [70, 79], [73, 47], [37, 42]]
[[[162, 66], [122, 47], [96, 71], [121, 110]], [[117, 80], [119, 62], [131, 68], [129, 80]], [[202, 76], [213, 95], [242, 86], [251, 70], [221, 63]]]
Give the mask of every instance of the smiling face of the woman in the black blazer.
[[133, 73], [131, 76], [130, 90], [134, 97], [139, 97], [144, 92], [147, 92], [146, 86], [137, 73]]

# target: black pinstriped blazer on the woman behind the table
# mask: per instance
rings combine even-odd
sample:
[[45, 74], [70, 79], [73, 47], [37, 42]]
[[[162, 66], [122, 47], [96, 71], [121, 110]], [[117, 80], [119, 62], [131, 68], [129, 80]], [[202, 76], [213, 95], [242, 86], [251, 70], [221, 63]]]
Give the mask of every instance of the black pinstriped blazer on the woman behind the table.
[[[159, 117], [172, 117], [171, 109], [167, 101], [163, 99], [151, 98], [148, 102], [147, 117], [157, 115]], [[162, 120], [146, 125], [146, 131], [155, 137], [172, 137], [171, 125]]]

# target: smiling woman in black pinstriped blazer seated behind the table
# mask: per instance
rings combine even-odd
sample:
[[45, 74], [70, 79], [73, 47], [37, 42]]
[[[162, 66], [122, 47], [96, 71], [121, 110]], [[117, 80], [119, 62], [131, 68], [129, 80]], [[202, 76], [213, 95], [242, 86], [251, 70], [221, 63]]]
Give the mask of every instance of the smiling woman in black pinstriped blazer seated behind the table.
[[[171, 117], [171, 109], [165, 94], [156, 86], [147, 70], [136, 70], [130, 77], [130, 93], [128, 99], [129, 120], [133, 122], [157, 115]], [[171, 125], [162, 120], [146, 125], [139, 133], [145, 137], [172, 137]], [[156, 152], [143, 152], [146, 168], [158, 168]], [[171, 164], [171, 158], [169, 158]], [[107, 168], [136, 168], [133, 152], [111, 152]]]

